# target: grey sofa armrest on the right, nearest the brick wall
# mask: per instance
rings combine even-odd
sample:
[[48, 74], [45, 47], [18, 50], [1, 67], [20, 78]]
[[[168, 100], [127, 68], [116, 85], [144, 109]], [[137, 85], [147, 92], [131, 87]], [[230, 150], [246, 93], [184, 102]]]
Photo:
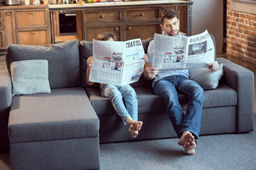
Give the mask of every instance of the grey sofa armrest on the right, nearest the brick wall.
[[223, 63], [223, 83], [232, 87], [238, 94], [237, 132], [253, 131], [254, 74], [249, 69], [230, 62], [225, 58], [217, 58]]

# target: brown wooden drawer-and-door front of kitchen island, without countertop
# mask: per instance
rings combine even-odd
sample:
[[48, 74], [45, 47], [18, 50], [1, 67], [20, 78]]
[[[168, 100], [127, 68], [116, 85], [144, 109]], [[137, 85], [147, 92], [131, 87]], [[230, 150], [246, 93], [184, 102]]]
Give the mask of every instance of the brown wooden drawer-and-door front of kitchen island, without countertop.
[[[181, 32], [187, 33], [186, 6], [165, 6], [174, 8], [181, 19]], [[82, 23], [82, 39], [92, 41], [99, 33], [110, 31], [117, 36], [117, 40], [131, 40], [134, 38], [154, 38], [154, 33], [161, 33], [159, 26], [159, 11], [161, 6], [119, 6], [119, 8], [87, 9], [77, 13]]]

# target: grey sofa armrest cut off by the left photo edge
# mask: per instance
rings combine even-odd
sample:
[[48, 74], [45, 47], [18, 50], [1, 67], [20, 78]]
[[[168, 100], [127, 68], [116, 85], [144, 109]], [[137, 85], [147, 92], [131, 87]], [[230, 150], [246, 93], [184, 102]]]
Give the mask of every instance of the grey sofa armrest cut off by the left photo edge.
[[7, 70], [0, 71], [0, 115], [11, 106], [11, 77]]

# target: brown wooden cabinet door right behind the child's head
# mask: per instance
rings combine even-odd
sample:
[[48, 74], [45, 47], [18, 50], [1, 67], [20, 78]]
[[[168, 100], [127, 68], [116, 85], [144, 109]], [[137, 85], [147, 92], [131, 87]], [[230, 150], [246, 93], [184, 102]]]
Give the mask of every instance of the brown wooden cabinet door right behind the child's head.
[[92, 41], [92, 39], [95, 39], [98, 34], [103, 32], [112, 32], [114, 35], [116, 35], [117, 40], [120, 40], [120, 28], [117, 27], [100, 27], [100, 28], [85, 28], [85, 37], [84, 40]]

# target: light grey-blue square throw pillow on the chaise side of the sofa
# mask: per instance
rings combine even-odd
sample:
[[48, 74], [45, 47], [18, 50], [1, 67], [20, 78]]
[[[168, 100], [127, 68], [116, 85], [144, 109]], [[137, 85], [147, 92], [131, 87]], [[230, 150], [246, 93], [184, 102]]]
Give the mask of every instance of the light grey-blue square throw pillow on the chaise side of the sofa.
[[12, 62], [12, 94], [50, 93], [48, 60], [23, 60]]

